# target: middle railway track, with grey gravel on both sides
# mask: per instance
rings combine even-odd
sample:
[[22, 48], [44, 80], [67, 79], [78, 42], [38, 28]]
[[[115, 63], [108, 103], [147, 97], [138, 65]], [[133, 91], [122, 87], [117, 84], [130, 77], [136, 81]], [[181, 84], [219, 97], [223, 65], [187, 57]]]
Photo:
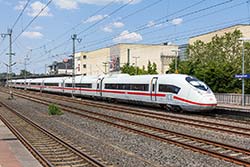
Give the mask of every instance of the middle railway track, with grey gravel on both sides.
[[[27, 95], [18, 95], [22, 98], [28, 100], [49, 105], [50, 100], [41, 97], [30, 97]], [[171, 143], [195, 152], [200, 152], [202, 154], [210, 155], [216, 158], [220, 158], [235, 164], [250, 167], [250, 151], [226, 145], [223, 143], [218, 143], [190, 135], [185, 135], [173, 131], [168, 131], [161, 128], [156, 128], [150, 125], [141, 124], [138, 122], [133, 122], [130, 120], [117, 118], [115, 116], [109, 116], [102, 113], [94, 113], [88, 110], [79, 109], [72, 106], [67, 106], [58, 103], [63, 111], [70, 112], [79, 115], [84, 118], [92, 119], [98, 122], [102, 122], [116, 128], [120, 128], [129, 132], [140, 134], [161, 142]]]

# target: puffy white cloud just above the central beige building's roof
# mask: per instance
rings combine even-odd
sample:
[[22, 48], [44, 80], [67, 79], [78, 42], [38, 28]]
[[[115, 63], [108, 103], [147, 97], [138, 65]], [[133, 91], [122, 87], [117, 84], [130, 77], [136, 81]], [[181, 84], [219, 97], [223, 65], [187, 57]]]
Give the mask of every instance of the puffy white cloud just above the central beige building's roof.
[[141, 34], [136, 32], [129, 32], [128, 30], [123, 31], [118, 37], [113, 39], [115, 43], [121, 42], [138, 42], [142, 40]]

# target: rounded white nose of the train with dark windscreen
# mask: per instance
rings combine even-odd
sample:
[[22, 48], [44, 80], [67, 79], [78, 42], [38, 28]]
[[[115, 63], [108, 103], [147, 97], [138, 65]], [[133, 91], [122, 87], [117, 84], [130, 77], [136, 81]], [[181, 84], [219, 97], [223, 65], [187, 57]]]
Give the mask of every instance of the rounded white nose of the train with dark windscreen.
[[185, 76], [181, 96], [176, 100], [182, 101], [181, 108], [186, 111], [209, 111], [217, 105], [212, 90], [202, 81], [192, 76]]

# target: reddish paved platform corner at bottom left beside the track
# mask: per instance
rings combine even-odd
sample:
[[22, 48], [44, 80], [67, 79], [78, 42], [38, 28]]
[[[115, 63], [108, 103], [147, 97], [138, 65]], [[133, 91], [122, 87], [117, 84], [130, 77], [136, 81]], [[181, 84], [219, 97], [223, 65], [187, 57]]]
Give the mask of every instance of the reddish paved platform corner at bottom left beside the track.
[[0, 167], [42, 167], [1, 120]]

